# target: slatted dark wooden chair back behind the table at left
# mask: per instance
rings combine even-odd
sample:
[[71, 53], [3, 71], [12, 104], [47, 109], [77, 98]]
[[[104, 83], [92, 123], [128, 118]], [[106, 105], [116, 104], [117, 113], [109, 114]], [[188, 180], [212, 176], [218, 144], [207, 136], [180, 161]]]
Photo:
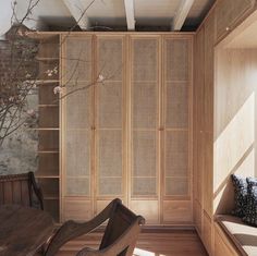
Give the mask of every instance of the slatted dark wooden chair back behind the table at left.
[[0, 205], [10, 204], [44, 209], [42, 193], [33, 172], [0, 175]]

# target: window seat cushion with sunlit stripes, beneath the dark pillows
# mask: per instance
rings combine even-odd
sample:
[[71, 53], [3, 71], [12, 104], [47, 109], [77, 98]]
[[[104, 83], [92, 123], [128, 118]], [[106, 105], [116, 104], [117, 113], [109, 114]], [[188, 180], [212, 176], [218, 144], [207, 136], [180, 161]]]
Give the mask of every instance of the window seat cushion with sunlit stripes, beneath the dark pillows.
[[216, 221], [233, 241], [242, 255], [257, 255], [257, 228], [247, 225], [241, 218], [230, 215], [217, 216]]

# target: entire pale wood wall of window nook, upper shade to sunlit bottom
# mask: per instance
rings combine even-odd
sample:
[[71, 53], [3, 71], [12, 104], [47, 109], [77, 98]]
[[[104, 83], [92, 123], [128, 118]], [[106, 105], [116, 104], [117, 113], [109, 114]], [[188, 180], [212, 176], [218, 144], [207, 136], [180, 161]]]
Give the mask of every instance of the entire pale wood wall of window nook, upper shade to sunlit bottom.
[[234, 205], [231, 174], [257, 174], [257, 49], [215, 49], [213, 212]]

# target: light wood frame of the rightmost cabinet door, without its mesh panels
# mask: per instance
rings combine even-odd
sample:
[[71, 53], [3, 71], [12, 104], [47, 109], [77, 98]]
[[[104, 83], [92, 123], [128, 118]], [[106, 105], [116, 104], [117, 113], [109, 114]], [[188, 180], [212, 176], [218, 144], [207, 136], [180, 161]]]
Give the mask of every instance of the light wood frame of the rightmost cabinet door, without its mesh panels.
[[[167, 40], [185, 40], [188, 46], [188, 57], [187, 57], [187, 127], [186, 129], [167, 129], [167, 83], [173, 83], [167, 80], [167, 52], [166, 52], [166, 41]], [[163, 35], [162, 36], [162, 135], [161, 135], [161, 223], [172, 224], [193, 224], [193, 38], [191, 35]], [[180, 81], [179, 81], [180, 82]], [[184, 83], [182, 81], [182, 83]], [[181, 82], [180, 82], [181, 83]], [[178, 85], [176, 85], [178, 86]], [[166, 142], [167, 132], [172, 133], [186, 132], [187, 133], [187, 195], [166, 195]], [[169, 211], [172, 211], [173, 219], [169, 218]], [[178, 215], [173, 211], [176, 211]], [[188, 212], [189, 211], [189, 212]], [[185, 220], [180, 218], [180, 215], [184, 212], [186, 216]]]

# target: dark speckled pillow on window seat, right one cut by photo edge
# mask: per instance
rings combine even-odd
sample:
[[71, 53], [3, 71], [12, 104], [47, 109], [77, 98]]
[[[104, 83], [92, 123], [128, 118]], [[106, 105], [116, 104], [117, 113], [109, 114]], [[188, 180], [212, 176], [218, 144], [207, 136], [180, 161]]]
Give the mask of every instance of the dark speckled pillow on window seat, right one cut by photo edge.
[[257, 179], [247, 178], [248, 193], [246, 198], [245, 217], [243, 221], [247, 224], [257, 227]]

